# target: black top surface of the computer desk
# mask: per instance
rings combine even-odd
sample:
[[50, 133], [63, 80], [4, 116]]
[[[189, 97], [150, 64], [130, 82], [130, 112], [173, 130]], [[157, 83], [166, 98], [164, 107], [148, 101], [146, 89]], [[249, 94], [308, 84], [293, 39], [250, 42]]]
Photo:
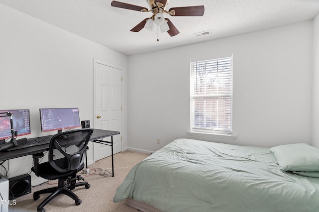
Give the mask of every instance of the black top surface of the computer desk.
[[[90, 140], [98, 140], [105, 137], [120, 134], [118, 131], [94, 129]], [[0, 151], [0, 161], [18, 158], [26, 155], [32, 155], [49, 150], [49, 144], [43, 144], [39, 146], [32, 146], [24, 149], [17, 149], [12, 151]]]

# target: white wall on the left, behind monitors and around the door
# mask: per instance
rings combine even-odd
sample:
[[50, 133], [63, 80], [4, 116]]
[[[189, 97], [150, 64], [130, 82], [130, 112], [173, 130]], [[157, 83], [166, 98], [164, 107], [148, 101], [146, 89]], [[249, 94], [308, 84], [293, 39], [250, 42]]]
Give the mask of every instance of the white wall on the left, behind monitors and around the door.
[[[3, 4], [0, 20], [0, 108], [30, 109], [31, 135], [25, 137], [54, 133], [41, 133], [39, 108], [79, 107], [80, 120], [93, 123], [93, 58], [123, 68], [127, 107], [126, 55]], [[10, 160], [8, 177], [25, 174], [31, 166], [31, 156]]]

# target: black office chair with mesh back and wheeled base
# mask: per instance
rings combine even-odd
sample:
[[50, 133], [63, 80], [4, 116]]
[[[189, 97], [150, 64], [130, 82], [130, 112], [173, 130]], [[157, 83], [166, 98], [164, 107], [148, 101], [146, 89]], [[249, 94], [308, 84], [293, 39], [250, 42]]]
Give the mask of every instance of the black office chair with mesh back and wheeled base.
[[[40, 163], [39, 158], [43, 153], [34, 154], [34, 165], [31, 170], [36, 176], [48, 180], [58, 179], [58, 187], [48, 188], [33, 193], [33, 200], [40, 198], [40, 194], [51, 193], [38, 207], [38, 212], [45, 212], [43, 207], [59, 194], [65, 194], [75, 201], [75, 205], [80, 205], [81, 200], [72, 192], [75, 187], [85, 186], [90, 188], [87, 182], [77, 172], [84, 168], [84, 153], [88, 145], [93, 129], [84, 128], [54, 135], [49, 146], [48, 162]], [[55, 150], [53, 152], [53, 150]]]

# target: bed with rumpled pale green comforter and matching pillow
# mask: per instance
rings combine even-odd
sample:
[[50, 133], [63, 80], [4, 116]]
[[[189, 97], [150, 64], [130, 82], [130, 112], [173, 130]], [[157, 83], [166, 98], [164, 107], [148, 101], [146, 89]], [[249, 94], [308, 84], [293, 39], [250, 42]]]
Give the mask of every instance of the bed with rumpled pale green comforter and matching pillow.
[[319, 149], [177, 139], [132, 168], [113, 201], [126, 199], [161, 212], [318, 212]]

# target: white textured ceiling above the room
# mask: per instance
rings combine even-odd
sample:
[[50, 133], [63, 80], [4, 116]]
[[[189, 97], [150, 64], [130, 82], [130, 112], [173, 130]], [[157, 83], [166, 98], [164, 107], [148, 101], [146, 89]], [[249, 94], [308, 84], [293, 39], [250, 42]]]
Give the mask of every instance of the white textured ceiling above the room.
[[[179, 30], [170, 37], [157, 29], [130, 30], [151, 13], [111, 6], [112, 0], [0, 0], [47, 23], [81, 37], [134, 55], [203, 42], [290, 23], [313, 19], [319, 13], [319, 0], [169, 0], [166, 7], [204, 5], [203, 16], [168, 17]], [[118, 0], [148, 7], [147, 0]], [[194, 33], [211, 34], [195, 37]]]

